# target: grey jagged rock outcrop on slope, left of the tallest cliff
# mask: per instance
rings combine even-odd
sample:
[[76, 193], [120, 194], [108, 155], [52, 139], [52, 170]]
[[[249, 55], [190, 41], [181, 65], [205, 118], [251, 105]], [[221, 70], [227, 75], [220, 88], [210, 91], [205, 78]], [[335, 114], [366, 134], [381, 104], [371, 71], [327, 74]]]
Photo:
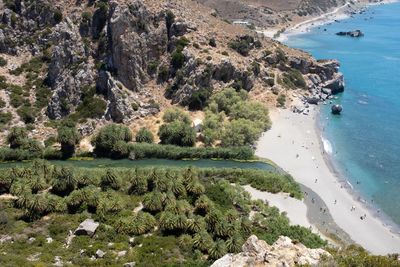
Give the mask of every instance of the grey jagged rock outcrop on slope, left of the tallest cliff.
[[77, 25], [68, 18], [57, 25], [48, 81], [53, 95], [47, 107], [51, 119], [71, 113], [81, 101], [82, 87], [94, 84], [94, 65], [85, 54]]

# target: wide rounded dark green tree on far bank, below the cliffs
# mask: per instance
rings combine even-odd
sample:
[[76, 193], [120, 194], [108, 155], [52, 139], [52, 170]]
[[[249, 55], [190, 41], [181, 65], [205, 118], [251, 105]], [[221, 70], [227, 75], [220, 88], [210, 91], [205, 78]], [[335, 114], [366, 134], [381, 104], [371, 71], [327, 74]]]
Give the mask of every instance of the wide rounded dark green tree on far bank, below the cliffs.
[[109, 124], [97, 133], [92, 139], [94, 153], [97, 156], [121, 157], [121, 145], [126, 145], [132, 140], [131, 130], [123, 125]]

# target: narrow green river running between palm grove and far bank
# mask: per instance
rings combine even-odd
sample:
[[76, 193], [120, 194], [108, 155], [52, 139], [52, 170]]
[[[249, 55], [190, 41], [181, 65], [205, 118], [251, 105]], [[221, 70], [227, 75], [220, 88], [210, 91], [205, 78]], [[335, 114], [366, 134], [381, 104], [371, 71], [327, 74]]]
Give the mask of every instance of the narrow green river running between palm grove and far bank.
[[[240, 168], [240, 169], [261, 169], [266, 171], [280, 171], [274, 166], [261, 162], [241, 162], [233, 160], [167, 160], [167, 159], [144, 159], [144, 160], [111, 160], [111, 159], [95, 159], [95, 160], [80, 160], [80, 161], [50, 161], [51, 164], [59, 166], [69, 166], [71, 168], [136, 168], [136, 167], [197, 167], [197, 168]], [[14, 166], [23, 166], [30, 164], [29, 162], [21, 163], [0, 163], [0, 168], [10, 168]]]

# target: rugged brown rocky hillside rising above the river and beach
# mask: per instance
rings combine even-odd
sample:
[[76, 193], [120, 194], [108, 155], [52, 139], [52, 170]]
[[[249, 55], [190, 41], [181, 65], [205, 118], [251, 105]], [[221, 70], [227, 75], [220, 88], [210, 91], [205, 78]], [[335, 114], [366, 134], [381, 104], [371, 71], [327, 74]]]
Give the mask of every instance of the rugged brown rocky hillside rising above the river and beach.
[[290, 103], [291, 91], [321, 99], [343, 90], [336, 61], [257, 37], [194, 1], [8, 0], [0, 10], [0, 90], [9, 96], [0, 112], [38, 138], [54, 132], [49, 120], [72, 118], [86, 135], [171, 104], [201, 109], [226, 86], [270, 106]]

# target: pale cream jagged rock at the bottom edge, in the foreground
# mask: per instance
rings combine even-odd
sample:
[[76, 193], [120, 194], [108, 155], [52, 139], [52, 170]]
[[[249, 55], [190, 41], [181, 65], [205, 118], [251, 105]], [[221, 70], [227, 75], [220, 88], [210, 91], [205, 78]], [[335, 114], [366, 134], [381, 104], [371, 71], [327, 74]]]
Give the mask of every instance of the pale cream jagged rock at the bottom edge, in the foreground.
[[247, 239], [239, 254], [227, 254], [214, 262], [212, 267], [240, 266], [297, 266], [316, 265], [322, 256], [330, 254], [323, 249], [309, 249], [281, 236], [272, 246], [255, 235]]

